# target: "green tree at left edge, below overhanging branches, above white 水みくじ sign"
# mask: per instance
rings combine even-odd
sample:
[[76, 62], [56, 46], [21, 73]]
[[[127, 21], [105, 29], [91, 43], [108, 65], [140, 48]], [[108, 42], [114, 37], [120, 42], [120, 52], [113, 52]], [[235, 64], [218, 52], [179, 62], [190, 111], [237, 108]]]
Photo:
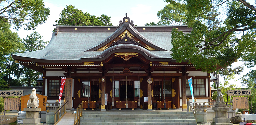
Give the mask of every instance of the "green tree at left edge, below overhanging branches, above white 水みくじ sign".
[[0, 20], [0, 89], [7, 89], [11, 85], [20, 85], [12, 76], [19, 78], [21, 70], [14, 63], [11, 53], [24, 51], [22, 40], [17, 33], [10, 30], [11, 25]]

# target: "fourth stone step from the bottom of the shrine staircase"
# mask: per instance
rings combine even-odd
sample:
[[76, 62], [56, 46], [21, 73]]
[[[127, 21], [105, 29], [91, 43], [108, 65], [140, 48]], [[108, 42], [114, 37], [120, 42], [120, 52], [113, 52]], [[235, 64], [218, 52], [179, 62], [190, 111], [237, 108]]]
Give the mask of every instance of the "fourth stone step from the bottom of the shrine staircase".
[[83, 117], [193, 117], [193, 114], [84, 114]]

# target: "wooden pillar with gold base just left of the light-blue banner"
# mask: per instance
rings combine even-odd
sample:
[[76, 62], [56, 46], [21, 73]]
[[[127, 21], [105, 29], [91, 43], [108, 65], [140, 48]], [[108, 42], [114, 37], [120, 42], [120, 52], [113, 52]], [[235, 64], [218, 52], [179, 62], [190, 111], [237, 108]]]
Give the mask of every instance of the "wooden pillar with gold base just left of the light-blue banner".
[[[182, 110], [187, 107], [187, 93], [186, 93], [186, 71], [185, 66], [182, 67], [181, 76], [181, 97], [182, 97]], [[186, 107], [185, 107], [186, 106]]]

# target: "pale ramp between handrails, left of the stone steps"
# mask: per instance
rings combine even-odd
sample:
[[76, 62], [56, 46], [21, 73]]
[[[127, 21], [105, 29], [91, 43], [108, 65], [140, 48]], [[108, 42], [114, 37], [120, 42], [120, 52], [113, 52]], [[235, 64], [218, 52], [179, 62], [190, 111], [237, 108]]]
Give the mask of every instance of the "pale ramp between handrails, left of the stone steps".
[[54, 125], [73, 125], [75, 121], [74, 114], [71, 115], [73, 112], [67, 112], [63, 117], [59, 120], [57, 124]]

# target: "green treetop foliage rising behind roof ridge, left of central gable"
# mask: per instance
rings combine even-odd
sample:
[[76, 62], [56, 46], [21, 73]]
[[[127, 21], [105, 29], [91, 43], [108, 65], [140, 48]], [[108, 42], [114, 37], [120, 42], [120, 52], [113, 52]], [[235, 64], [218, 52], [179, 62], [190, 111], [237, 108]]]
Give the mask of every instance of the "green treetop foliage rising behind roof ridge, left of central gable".
[[110, 18], [104, 14], [96, 18], [94, 15], [75, 9], [75, 6], [67, 5], [61, 11], [60, 18], [56, 20], [56, 23], [68, 26], [113, 26], [110, 23]]

